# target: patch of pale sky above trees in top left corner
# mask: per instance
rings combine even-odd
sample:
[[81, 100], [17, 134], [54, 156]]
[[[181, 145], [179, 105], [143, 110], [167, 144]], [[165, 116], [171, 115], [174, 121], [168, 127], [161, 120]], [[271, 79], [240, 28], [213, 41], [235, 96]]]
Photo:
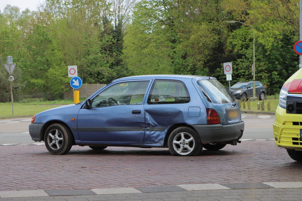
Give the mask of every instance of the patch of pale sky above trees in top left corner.
[[33, 11], [36, 10], [37, 5], [39, 5], [43, 0], [0, 0], [0, 10], [3, 11], [7, 4], [18, 6], [21, 11], [26, 8]]

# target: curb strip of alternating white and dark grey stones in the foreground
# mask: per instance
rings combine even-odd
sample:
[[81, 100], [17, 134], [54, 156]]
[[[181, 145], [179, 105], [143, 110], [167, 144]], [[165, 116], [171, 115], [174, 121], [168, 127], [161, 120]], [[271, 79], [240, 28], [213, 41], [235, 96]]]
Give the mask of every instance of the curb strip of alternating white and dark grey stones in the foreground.
[[99, 189], [71, 189], [71, 190], [21, 190], [0, 191], [0, 198], [34, 197], [34, 196], [81, 196], [81, 195], [107, 195], [132, 194], [149, 192], [179, 192], [198, 190], [238, 190], [238, 189], [276, 189], [276, 188], [302, 188], [302, 182], [262, 182], [262, 183], [230, 183], [230, 184], [182, 184], [157, 187], [135, 188], [99, 188]]

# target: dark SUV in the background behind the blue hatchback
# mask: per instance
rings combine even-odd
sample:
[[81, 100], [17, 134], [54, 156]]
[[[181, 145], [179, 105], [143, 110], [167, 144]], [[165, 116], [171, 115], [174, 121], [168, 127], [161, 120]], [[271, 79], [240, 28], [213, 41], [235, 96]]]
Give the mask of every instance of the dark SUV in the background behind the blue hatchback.
[[[255, 81], [256, 85], [256, 96], [259, 100], [264, 100], [266, 95], [266, 86]], [[231, 91], [237, 99], [242, 97], [243, 100], [247, 100], [249, 97], [253, 96], [253, 81], [250, 82], [237, 82], [235, 85], [231, 86]]]

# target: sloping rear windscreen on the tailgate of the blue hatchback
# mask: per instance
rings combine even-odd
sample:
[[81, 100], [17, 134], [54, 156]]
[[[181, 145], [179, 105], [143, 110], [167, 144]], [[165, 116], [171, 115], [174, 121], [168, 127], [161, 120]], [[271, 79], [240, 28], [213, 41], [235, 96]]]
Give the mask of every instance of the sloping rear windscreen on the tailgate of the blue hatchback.
[[217, 79], [198, 80], [197, 84], [206, 99], [211, 103], [233, 103], [236, 101], [233, 94]]

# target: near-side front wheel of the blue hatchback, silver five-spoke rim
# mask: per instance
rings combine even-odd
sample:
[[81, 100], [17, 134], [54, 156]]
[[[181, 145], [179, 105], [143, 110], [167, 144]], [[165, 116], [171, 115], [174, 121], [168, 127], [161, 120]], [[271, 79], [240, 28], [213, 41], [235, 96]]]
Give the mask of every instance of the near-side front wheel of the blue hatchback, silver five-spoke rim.
[[45, 131], [44, 143], [47, 150], [56, 155], [69, 152], [72, 147], [72, 134], [65, 125], [51, 124]]

